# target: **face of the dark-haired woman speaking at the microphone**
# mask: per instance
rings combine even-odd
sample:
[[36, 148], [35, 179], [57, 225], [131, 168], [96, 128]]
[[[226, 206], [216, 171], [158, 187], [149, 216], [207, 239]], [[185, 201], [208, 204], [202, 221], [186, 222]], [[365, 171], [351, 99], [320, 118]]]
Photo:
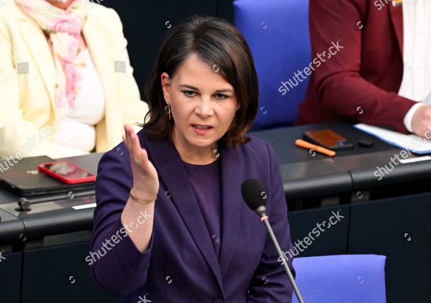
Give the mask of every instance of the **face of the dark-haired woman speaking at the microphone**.
[[[183, 147], [208, 147], [219, 140], [240, 108], [234, 87], [196, 55], [187, 59], [174, 78], [162, 73], [163, 94], [175, 121], [174, 138]], [[198, 130], [193, 125], [208, 125]], [[176, 142], [175, 142], [176, 143]]]

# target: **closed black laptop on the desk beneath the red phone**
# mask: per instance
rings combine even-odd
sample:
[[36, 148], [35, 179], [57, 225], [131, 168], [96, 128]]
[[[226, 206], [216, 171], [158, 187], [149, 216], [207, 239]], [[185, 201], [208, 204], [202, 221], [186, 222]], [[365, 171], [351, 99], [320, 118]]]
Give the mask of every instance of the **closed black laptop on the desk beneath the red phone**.
[[[2, 159], [2, 161], [5, 160]], [[28, 157], [16, 161], [18, 162], [14, 163], [13, 160], [10, 160], [13, 166], [7, 162], [3, 163], [3, 172], [0, 171], [0, 185], [21, 197], [94, 188], [94, 181], [66, 184], [40, 172], [39, 164], [56, 161], [48, 156]], [[5, 170], [6, 167], [9, 168]]]

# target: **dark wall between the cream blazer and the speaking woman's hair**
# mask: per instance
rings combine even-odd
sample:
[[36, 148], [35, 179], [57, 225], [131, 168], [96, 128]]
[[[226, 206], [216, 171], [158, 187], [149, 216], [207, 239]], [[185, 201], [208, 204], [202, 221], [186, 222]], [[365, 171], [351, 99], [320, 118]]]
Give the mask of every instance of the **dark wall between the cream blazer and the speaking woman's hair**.
[[[97, 4], [97, 0], [93, 0]], [[234, 22], [233, 0], [103, 0], [101, 5], [116, 10], [128, 41], [127, 50], [134, 78], [144, 96], [164, 35], [187, 17], [217, 16]], [[169, 23], [166, 25], [166, 22]], [[170, 28], [168, 26], [171, 25]]]

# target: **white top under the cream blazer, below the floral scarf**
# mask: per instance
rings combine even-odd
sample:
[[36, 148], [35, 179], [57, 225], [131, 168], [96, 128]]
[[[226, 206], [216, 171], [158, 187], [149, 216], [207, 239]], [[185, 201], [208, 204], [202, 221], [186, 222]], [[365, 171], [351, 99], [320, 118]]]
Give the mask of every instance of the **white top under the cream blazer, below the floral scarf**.
[[58, 123], [55, 137], [51, 143], [65, 150], [69, 156], [80, 156], [90, 153], [96, 145], [94, 125], [105, 115], [105, 94], [102, 82], [91, 60], [88, 48], [87, 66], [83, 69], [81, 91], [75, 98], [75, 106]]

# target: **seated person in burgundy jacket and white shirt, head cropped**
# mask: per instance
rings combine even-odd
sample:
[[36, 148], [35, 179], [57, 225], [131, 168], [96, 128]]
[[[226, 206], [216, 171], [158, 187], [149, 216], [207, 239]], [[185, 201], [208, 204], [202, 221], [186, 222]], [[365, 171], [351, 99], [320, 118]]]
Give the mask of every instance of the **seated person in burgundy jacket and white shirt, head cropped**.
[[342, 49], [312, 72], [295, 125], [347, 120], [424, 136], [431, 86], [413, 73], [428, 77], [430, 30], [421, 20], [430, 8], [423, 0], [310, 0], [312, 54], [331, 41]]

